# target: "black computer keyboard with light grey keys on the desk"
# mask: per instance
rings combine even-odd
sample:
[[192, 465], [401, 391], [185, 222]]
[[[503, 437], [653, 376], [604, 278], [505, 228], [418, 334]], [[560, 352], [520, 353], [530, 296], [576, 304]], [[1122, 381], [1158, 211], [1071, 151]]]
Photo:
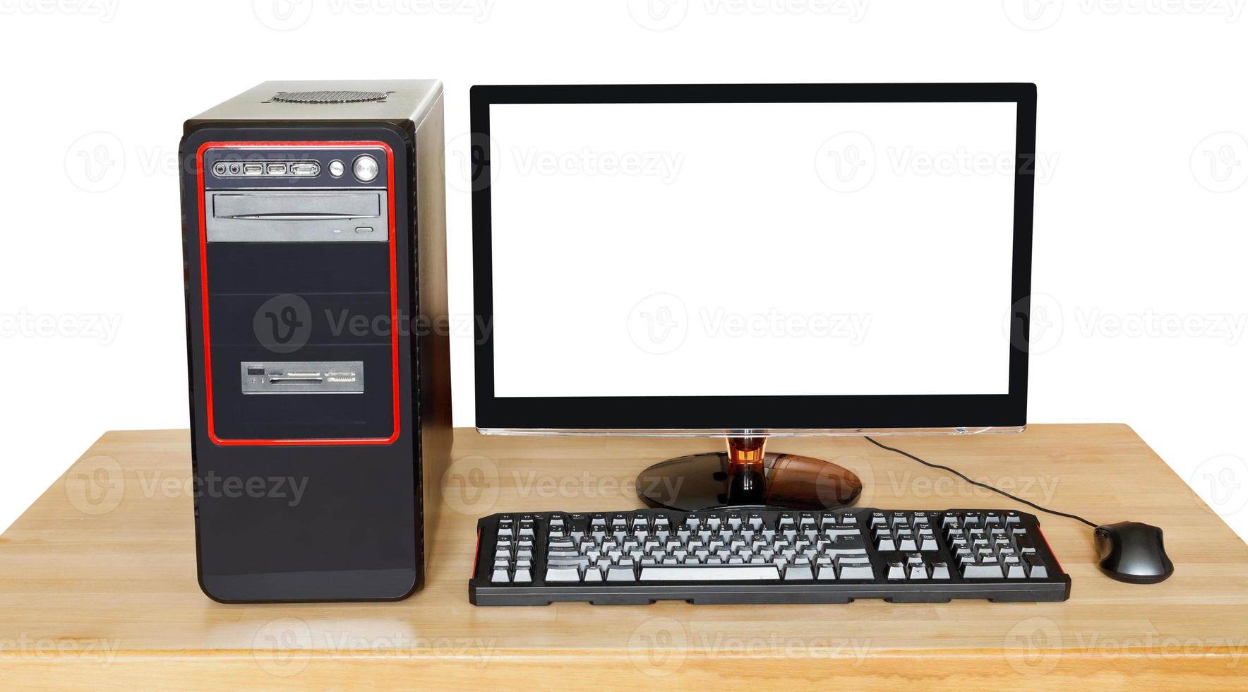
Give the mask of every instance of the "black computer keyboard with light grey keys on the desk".
[[477, 606], [1071, 596], [1040, 522], [1013, 510], [508, 513], [477, 533]]

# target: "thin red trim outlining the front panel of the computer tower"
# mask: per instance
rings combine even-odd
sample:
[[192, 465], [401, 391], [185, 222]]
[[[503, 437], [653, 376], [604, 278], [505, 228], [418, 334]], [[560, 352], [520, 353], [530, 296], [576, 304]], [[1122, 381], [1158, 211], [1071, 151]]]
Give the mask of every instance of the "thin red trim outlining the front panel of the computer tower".
[[[394, 380], [394, 428], [389, 437], [327, 437], [307, 440], [222, 440], [217, 437], [212, 416], [212, 342], [208, 331], [208, 232], [207, 219], [205, 217], [205, 181], [203, 181], [203, 152], [208, 149], [246, 149], [256, 146], [302, 146], [302, 147], [379, 147], [386, 150], [387, 162], [387, 197], [389, 197], [389, 250], [391, 250], [391, 375]], [[217, 445], [248, 445], [248, 446], [273, 446], [273, 445], [391, 445], [398, 440], [399, 417], [399, 383], [398, 383], [398, 257], [394, 247], [394, 152], [389, 145], [382, 141], [227, 141], [205, 142], [195, 152], [195, 169], [200, 181], [200, 300], [203, 311], [203, 391], [207, 401], [208, 440]]]

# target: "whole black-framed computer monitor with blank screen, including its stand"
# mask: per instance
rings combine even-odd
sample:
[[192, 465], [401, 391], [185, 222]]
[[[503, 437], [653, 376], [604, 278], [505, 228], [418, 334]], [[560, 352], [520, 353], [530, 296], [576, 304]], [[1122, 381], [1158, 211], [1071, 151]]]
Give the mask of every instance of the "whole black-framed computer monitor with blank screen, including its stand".
[[482, 432], [724, 436], [643, 498], [817, 508], [857, 478], [768, 437], [1025, 426], [1035, 85], [474, 86], [472, 131]]

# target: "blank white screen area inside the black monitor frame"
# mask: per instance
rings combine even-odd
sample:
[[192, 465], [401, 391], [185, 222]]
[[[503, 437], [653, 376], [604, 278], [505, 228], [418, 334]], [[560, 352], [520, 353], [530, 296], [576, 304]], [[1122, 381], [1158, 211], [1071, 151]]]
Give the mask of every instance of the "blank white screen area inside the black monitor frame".
[[489, 117], [495, 396], [1008, 392], [1015, 104]]

